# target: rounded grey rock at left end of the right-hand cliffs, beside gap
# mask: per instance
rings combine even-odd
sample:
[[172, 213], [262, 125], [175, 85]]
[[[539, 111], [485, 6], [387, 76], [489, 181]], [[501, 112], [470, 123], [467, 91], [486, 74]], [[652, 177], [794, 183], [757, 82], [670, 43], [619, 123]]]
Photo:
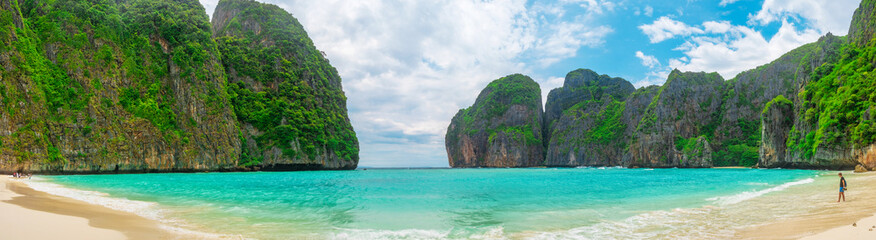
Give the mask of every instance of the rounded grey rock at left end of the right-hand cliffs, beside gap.
[[514, 74], [487, 85], [474, 105], [447, 127], [451, 167], [533, 167], [542, 164], [541, 89]]

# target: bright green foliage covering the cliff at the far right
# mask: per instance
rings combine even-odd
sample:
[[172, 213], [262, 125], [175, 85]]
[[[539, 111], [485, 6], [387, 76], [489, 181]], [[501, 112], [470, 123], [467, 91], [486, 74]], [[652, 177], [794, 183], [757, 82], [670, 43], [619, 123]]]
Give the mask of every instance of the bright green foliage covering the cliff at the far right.
[[[850, 33], [854, 34], [854, 33]], [[863, 147], [876, 142], [876, 41], [845, 44], [840, 58], [813, 71], [800, 91], [803, 118], [816, 127], [790, 144], [812, 157], [823, 145]], [[802, 110], [802, 109], [801, 109]]]

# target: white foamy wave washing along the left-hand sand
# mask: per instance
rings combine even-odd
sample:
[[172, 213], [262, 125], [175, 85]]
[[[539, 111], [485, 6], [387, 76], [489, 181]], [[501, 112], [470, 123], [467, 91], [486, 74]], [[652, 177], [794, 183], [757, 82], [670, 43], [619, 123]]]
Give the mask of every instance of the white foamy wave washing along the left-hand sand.
[[40, 177], [34, 177], [31, 181], [22, 182], [24, 182], [25, 184], [27, 184], [28, 187], [36, 191], [71, 198], [117, 211], [129, 212], [150, 220], [161, 222], [163, 223], [161, 224], [161, 228], [186, 237], [195, 239], [219, 239], [231, 237], [229, 235], [199, 232], [185, 228], [174, 227], [185, 225], [185, 223], [177, 219], [165, 217], [166, 212], [163, 209], [159, 208], [157, 203], [114, 198], [110, 197], [109, 194], [102, 192], [68, 188], [60, 184], [49, 182], [48, 180]]

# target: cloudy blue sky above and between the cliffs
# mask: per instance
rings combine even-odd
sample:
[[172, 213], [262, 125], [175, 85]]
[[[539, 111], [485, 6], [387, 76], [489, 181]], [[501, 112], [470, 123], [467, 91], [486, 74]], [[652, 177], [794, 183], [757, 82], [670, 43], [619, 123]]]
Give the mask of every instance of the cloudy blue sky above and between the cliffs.
[[[218, 0], [200, 0], [208, 15]], [[296, 17], [337, 68], [360, 167], [447, 167], [450, 119], [492, 80], [547, 93], [589, 68], [636, 87], [672, 69], [731, 79], [828, 32], [860, 0], [259, 0]]]

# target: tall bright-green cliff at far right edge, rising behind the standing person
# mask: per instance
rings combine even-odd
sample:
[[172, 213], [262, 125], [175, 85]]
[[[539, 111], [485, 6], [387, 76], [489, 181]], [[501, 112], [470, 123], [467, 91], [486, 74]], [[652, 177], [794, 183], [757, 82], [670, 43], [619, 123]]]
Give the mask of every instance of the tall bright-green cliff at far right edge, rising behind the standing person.
[[[856, 165], [872, 169], [876, 143], [876, 78], [868, 73], [876, 66], [876, 31], [873, 9], [876, 1], [865, 0], [855, 12], [848, 38], [825, 36], [794, 51], [809, 51], [798, 74], [793, 98], [793, 122], [786, 126], [764, 126], [764, 149], [785, 143], [782, 164], [806, 167], [851, 169]], [[799, 77], [803, 76], [803, 77]], [[764, 121], [776, 121], [765, 116]], [[789, 129], [789, 130], [788, 130]], [[786, 138], [781, 131], [788, 131]], [[762, 159], [770, 166], [773, 159]]]

